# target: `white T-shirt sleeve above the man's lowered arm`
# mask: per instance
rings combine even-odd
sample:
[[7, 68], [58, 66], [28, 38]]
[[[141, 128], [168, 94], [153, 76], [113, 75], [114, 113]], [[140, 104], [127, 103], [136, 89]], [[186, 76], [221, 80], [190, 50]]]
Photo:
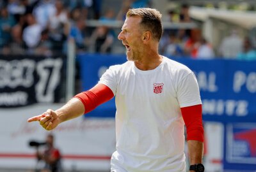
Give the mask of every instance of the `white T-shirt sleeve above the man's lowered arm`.
[[178, 83], [177, 99], [180, 108], [202, 104], [198, 83], [193, 72], [189, 73]]

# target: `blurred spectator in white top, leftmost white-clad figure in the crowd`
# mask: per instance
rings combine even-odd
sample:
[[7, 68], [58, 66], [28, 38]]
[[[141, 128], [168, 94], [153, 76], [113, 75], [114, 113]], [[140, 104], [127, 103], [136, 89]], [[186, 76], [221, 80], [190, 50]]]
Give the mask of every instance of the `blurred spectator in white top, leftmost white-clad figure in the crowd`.
[[32, 14], [27, 14], [28, 26], [24, 29], [22, 38], [29, 52], [33, 52], [40, 42], [42, 27], [39, 25]]

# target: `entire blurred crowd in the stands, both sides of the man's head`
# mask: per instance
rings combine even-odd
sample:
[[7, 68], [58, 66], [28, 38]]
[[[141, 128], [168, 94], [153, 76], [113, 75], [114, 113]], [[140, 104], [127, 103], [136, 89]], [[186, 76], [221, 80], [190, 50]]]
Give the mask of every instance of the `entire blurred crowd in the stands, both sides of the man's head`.
[[[102, 9], [104, 0], [2, 0], [0, 2], [0, 53], [44, 54], [67, 53], [67, 41], [74, 39], [78, 51], [113, 53], [117, 35], [106, 25], [88, 27], [86, 21], [125, 20], [129, 8], [150, 7], [150, 0], [124, 0], [118, 13]], [[164, 22], [191, 22], [189, 6], [163, 14]], [[168, 57], [212, 59], [256, 59], [250, 39], [232, 31], [220, 47], [213, 48], [200, 29], [164, 29], [160, 54]]]

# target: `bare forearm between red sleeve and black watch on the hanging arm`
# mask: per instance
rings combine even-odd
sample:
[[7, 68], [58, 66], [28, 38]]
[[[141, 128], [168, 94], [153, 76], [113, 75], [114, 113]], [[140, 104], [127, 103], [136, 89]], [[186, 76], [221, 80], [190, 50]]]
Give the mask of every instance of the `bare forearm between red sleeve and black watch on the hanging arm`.
[[204, 143], [202, 141], [188, 140], [190, 164], [202, 164]]

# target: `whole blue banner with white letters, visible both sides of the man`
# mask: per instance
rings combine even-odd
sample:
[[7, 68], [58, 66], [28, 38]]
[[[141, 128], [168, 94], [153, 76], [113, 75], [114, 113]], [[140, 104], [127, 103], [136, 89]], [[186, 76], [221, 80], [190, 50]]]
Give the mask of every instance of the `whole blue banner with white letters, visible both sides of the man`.
[[[83, 90], [92, 88], [102, 73], [114, 64], [126, 61], [125, 55], [79, 54]], [[198, 80], [205, 121], [251, 122], [256, 121], [256, 62], [175, 59], [192, 69]], [[98, 109], [113, 107], [114, 99]], [[106, 108], [105, 107], [105, 108]], [[115, 117], [99, 114], [95, 117]], [[90, 116], [88, 115], [88, 116]]]

